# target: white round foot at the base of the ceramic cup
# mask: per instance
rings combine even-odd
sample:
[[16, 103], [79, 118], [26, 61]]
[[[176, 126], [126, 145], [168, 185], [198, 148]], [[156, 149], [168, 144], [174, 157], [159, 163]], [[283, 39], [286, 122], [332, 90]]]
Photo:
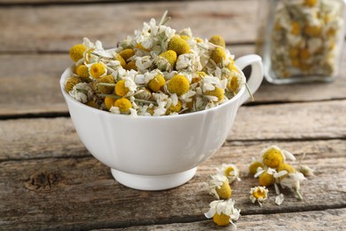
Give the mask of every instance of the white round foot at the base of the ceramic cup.
[[114, 169], [111, 169], [111, 171], [114, 179], [126, 187], [154, 191], [178, 187], [185, 184], [193, 178], [194, 174], [196, 174], [197, 168], [161, 176], [130, 174]]

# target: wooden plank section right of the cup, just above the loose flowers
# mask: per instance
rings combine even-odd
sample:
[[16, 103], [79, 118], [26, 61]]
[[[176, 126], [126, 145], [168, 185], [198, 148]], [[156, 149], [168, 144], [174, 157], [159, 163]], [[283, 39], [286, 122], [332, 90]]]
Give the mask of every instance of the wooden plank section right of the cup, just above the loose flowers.
[[346, 137], [346, 100], [241, 107], [228, 139]]

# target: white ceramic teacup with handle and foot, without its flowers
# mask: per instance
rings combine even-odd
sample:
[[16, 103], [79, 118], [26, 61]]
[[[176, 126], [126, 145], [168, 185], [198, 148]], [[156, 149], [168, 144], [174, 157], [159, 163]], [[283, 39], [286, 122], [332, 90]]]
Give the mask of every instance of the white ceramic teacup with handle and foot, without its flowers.
[[[255, 54], [235, 60], [251, 66], [248, 87], [256, 92], [263, 80], [262, 60]], [[122, 185], [141, 190], [177, 187], [192, 179], [196, 167], [223, 145], [237, 110], [249, 98], [246, 87], [224, 104], [177, 116], [115, 115], [80, 103], [65, 91], [72, 75], [60, 78], [61, 92], [84, 146], [112, 170]], [[87, 170], [86, 170], [87, 171]]]

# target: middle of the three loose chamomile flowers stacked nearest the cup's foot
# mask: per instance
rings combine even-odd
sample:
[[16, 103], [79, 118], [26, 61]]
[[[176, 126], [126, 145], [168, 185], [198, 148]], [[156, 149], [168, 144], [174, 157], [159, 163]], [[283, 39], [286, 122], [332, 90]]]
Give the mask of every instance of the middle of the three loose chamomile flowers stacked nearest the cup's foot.
[[208, 182], [208, 191], [210, 195], [214, 195], [216, 199], [228, 199], [232, 195], [230, 182], [224, 175], [215, 174], [210, 176]]

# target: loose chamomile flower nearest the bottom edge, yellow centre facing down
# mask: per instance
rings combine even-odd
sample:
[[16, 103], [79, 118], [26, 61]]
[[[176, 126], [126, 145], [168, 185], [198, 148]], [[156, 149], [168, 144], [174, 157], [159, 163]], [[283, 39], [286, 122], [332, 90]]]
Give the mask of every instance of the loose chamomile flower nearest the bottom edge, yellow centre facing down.
[[213, 218], [217, 226], [227, 226], [240, 218], [240, 210], [236, 209], [235, 201], [229, 199], [227, 201], [219, 200], [209, 203], [209, 211], [204, 213], [207, 219]]

